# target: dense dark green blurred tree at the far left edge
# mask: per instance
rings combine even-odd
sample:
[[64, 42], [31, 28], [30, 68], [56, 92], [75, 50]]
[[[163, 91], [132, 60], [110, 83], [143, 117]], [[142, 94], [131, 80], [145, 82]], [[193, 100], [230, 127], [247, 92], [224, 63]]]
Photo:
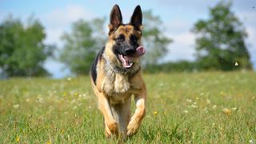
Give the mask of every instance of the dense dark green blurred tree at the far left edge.
[[46, 46], [41, 23], [29, 18], [26, 26], [19, 19], [7, 17], [0, 24], [0, 71], [2, 77], [48, 74], [43, 62], [53, 46]]

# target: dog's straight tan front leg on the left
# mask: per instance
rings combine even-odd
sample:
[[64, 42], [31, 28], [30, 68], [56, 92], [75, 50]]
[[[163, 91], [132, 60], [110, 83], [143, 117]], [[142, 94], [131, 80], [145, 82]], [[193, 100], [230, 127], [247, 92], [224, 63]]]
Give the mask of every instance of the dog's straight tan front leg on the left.
[[117, 122], [114, 120], [110, 110], [110, 103], [106, 96], [102, 93], [98, 93], [98, 108], [101, 110], [105, 120], [106, 137], [110, 137], [112, 134], [118, 132]]

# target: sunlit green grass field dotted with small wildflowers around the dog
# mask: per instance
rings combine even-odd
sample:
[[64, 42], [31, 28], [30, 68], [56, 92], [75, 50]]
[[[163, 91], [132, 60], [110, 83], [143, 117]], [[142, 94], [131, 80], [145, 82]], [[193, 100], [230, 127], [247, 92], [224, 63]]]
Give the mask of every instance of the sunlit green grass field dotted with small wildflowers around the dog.
[[[256, 143], [256, 73], [145, 74], [146, 117], [127, 143]], [[134, 109], [134, 106], [133, 106]], [[0, 81], [0, 143], [117, 143], [88, 77]]]

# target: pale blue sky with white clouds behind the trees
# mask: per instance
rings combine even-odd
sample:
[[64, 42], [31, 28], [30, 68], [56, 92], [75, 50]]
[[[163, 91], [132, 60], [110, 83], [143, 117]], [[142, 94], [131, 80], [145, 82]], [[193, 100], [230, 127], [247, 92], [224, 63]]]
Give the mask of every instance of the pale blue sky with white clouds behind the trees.
[[[174, 40], [168, 46], [169, 51], [162, 58], [162, 62], [193, 61], [196, 36], [191, 29], [198, 19], [209, 18], [209, 8], [218, 2], [218, 0], [0, 0], [0, 23], [9, 14], [12, 14], [14, 18], [20, 18], [22, 22], [26, 22], [26, 19], [33, 15], [34, 18], [40, 20], [46, 30], [45, 42], [62, 47], [60, 36], [64, 32], [70, 32], [72, 23], [78, 19], [88, 21], [102, 17], [109, 19], [110, 10], [114, 4], [118, 4], [122, 11], [123, 22], [129, 22], [135, 6], [140, 5], [142, 10], [152, 10], [154, 15], [162, 19], [165, 35]], [[255, 7], [255, 0], [234, 0], [231, 8], [246, 28], [248, 34], [246, 45], [250, 51], [250, 61], [254, 64], [254, 70], [256, 68]], [[70, 75], [70, 71], [65, 69], [66, 66], [53, 59], [47, 59], [44, 66], [53, 74], [53, 78]]]

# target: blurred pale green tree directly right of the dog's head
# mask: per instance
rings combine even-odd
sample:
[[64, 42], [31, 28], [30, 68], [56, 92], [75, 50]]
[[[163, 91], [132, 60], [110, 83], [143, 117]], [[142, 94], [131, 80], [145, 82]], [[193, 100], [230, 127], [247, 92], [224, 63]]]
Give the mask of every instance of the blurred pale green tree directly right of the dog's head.
[[167, 46], [172, 42], [164, 35], [162, 21], [152, 14], [152, 10], [143, 12], [142, 45], [146, 47], [146, 56], [142, 57], [144, 66], [157, 64], [167, 52]]

